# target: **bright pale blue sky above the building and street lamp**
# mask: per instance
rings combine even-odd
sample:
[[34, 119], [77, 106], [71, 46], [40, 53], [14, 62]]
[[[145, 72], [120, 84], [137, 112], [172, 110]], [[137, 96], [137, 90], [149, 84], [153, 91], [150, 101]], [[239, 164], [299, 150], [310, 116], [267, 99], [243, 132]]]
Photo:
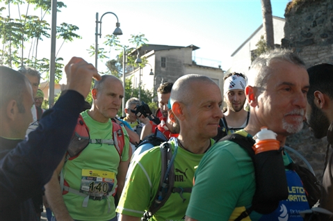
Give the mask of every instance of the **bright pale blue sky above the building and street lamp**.
[[[201, 58], [218, 60], [223, 70], [230, 67], [231, 54], [262, 23], [261, 1], [113, 1], [113, 0], [68, 0], [63, 1], [67, 8], [58, 13], [57, 24], [66, 22], [79, 26], [77, 33], [81, 40], [65, 43], [58, 57], [67, 63], [72, 56], [80, 56], [90, 63], [87, 49], [95, 44], [95, 17], [106, 12], [115, 13], [120, 22], [123, 35], [121, 44], [129, 44], [131, 34], [145, 34], [150, 44], [188, 46], [194, 44], [197, 60]], [[273, 15], [284, 17], [288, 0], [271, 0]], [[1, 3], [3, 4], [3, 3]], [[105, 15], [101, 24], [101, 38], [113, 33], [116, 18]], [[51, 16], [49, 16], [51, 24]], [[62, 42], [57, 41], [57, 50]], [[40, 56], [49, 58], [50, 41], [42, 43]], [[119, 51], [114, 48], [108, 56], [114, 58]], [[100, 70], [105, 70], [106, 59], [100, 61]]]

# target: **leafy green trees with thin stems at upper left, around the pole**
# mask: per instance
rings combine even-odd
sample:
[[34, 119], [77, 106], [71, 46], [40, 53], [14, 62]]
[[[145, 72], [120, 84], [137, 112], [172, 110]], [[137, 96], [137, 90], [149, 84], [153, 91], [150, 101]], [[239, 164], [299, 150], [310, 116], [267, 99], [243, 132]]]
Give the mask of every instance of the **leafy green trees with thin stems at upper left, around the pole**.
[[[51, 12], [51, 0], [0, 0], [6, 7], [0, 8], [0, 65], [8, 67], [33, 67], [49, 76], [49, 58], [38, 58], [40, 40], [50, 38], [50, 24], [44, 19]], [[57, 10], [66, 7], [61, 1], [57, 2]], [[17, 10], [18, 17], [13, 18], [12, 12]], [[36, 15], [40, 13], [40, 15]], [[6, 14], [6, 15], [5, 15]], [[58, 40], [72, 42], [81, 38], [75, 31], [79, 27], [72, 24], [57, 26]], [[58, 53], [57, 53], [58, 55]], [[56, 83], [62, 77], [63, 58], [56, 58]]]

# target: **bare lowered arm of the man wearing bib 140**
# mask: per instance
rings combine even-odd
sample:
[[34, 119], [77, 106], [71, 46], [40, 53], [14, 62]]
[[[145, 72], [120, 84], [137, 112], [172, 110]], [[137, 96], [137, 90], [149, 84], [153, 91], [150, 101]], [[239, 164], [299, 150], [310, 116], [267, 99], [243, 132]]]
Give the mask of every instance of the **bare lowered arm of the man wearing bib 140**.
[[56, 220], [73, 220], [68, 213], [65, 202], [63, 201], [63, 195], [61, 193], [58, 175], [56, 172], [51, 177], [49, 183], [45, 185], [45, 196], [49, 207], [56, 216]]

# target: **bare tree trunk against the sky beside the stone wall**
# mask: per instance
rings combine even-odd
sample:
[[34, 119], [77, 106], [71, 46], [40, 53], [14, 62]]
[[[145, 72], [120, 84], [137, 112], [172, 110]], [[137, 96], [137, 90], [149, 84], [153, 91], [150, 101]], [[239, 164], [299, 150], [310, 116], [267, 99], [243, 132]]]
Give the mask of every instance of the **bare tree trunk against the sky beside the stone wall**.
[[261, 10], [263, 12], [263, 30], [265, 30], [267, 47], [274, 49], [273, 16], [270, 0], [261, 0]]

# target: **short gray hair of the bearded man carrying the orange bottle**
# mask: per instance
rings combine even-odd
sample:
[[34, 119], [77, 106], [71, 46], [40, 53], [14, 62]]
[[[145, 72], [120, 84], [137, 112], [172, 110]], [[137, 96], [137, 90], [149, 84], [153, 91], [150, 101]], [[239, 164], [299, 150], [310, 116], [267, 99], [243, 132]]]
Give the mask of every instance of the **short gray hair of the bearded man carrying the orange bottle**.
[[247, 76], [247, 85], [252, 87], [266, 88], [272, 69], [270, 63], [273, 61], [286, 61], [300, 67], [305, 67], [302, 59], [289, 49], [274, 49], [261, 54], [252, 62]]

